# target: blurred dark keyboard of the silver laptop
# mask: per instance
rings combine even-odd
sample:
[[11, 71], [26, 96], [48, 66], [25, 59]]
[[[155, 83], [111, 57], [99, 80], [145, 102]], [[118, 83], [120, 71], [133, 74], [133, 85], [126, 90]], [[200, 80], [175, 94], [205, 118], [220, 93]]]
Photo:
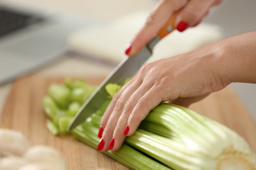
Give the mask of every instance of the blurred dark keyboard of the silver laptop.
[[43, 18], [38, 16], [0, 7], [0, 38], [41, 21], [43, 21]]

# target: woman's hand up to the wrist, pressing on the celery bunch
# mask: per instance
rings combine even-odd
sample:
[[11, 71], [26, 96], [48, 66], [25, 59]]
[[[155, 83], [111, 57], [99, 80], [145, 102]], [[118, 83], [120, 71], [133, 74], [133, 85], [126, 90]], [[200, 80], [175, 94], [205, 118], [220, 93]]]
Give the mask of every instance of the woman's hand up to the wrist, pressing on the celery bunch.
[[[181, 106], [228, 85], [213, 71], [218, 46], [211, 45], [183, 55], [145, 64], [117, 94], [102, 116], [97, 147], [116, 151], [126, 135], [133, 135], [151, 109], [163, 101]], [[103, 133], [102, 133], [103, 131]]]

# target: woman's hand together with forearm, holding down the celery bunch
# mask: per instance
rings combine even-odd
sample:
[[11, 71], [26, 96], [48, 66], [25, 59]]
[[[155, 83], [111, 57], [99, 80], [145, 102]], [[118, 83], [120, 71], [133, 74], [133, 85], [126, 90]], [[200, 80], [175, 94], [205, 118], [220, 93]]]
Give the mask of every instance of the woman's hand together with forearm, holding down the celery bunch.
[[102, 116], [97, 147], [118, 150], [163, 101], [189, 106], [231, 82], [256, 83], [256, 31], [145, 64]]

